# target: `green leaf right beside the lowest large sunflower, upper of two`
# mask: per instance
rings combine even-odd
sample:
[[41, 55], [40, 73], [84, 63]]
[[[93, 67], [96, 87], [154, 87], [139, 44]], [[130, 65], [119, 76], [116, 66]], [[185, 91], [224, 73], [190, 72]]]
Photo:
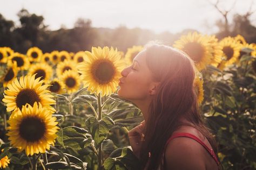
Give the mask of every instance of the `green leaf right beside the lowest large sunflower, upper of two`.
[[78, 128], [77, 126], [67, 126], [63, 128], [63, 134], [68, 137], [84, 137], [87, 130], [83, 128]]

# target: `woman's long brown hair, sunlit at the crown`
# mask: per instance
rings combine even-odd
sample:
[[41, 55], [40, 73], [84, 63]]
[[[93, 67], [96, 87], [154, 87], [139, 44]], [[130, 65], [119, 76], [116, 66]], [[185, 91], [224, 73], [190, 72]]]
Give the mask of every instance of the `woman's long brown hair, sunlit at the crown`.
[[198, 109], [193, 86], [197, 69], [193, 60], [178, 49], [155, 42], [146, 45], [145, 52], [153, 80], [160, 83], [147, 113], [145, 141], [140, 152], [142, 167], [147, 164], [147, 169], [157, 169], [167, 139], [179, 126], [188, 125], [180, 122], [180, 118], [198, 129], [217, 153], [215, 139]]

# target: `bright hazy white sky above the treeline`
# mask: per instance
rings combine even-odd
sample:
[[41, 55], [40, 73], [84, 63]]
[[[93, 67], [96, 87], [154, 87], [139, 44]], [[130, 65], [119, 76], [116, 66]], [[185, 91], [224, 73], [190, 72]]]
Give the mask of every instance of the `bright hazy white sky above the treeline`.
[[[130, 29], [140, 27], [156, 33], [177, 33], [195, 29], [202, 33], [218, 31], [215, 21], [222, 18], [211, 5], [217, 0], [0, 0], [0, 13], [5, 19], [18, 23], [17, 13], [22, 8], [42, 15], [50, 30], [64, 26], [72, 28], [78, 18], [91, 19], [93, 27], [116, 28], [120, 25]], [[234, 0], [220, 0], [219, 8], [229, 10]], [[237, 0], [231, 10], [245, 14], [255, 0]], [[256, 25], [256, 12], [250, 17]]]

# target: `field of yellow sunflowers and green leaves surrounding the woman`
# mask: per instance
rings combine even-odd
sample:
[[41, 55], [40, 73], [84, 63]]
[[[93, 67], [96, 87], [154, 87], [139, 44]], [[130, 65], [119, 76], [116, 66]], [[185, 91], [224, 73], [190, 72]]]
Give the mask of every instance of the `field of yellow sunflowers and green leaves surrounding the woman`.
[[[196, 63], [200, 111], [224, 169], [256, 169], [256, 44], [191, 32], [172, 46]], [[116, 91], [142, 50], [0, 47], [0, 168], [140, 169], [127, 132], [143, 116]]]

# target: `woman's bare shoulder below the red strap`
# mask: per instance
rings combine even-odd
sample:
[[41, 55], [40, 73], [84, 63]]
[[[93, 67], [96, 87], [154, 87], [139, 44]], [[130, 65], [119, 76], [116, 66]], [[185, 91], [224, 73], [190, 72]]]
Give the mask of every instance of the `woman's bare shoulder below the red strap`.
[[202, 147], [186, 137], [174, 138], [165, 149], [167, 169], [206, 169]]

